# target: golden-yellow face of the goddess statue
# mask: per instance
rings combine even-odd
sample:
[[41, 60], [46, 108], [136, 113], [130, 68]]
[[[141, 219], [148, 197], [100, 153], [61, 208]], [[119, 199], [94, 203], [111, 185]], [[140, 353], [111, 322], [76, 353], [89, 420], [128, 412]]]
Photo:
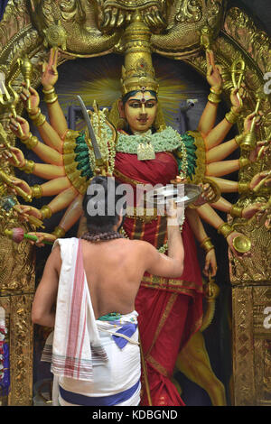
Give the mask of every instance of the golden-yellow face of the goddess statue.
[[125, 105], [120, 102], [120, 114], [126, 118], [132, 133], [145, 133], [154, 124], [156, 113], [157, 100], [149, 91], [138, 91]]

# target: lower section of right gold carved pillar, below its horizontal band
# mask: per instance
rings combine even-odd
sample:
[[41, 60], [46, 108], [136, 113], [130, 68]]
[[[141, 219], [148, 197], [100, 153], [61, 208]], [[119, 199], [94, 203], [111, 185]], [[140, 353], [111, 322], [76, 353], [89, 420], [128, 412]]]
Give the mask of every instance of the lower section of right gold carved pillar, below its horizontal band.
[[264, 309], [271, 306], [270, 287], [233, 289], [233, 378], [237, 406], [270, 405], [270, 329]]

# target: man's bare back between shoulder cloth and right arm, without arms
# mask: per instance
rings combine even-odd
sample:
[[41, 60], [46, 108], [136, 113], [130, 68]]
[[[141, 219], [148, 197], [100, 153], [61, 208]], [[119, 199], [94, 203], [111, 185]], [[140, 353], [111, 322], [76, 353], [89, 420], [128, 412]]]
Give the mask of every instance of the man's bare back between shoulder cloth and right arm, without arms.
[[132, 312], [145, 272], [142, 243], [120, 238], [99, 244], [82, 240], [81, 246], [95, 318]]

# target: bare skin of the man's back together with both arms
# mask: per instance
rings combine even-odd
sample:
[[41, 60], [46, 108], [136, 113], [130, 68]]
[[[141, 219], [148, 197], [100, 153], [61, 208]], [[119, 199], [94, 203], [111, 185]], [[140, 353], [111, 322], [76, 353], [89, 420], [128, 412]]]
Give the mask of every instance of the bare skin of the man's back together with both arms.
[[[81, 240], [83, 264], [95, 318], [110, 312], [127, 314], [135, 309], [135, 296], [145, 272], [162, 277], [180, 277], [183, 245], [179, 226], [168, 226], [168, 256], [152, 244], [118, 238], [100, 243]], [[51, 252], [33, 301], [33, 322], [53, 327], [61, 249]]]

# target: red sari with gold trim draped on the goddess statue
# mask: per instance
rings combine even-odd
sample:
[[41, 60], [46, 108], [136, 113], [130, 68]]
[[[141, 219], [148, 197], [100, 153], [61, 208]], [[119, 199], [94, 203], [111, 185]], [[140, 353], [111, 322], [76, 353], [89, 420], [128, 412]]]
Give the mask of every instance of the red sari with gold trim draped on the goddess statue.
[[[173, 154], [156, 153], [155, 160], [138, 161], [135, 154], [118, 152], [115, 160], [117, 180], [136, 184], [169, 184], [178, 174]], [[135, 199], [135, 196], [134, 196]], [[148, 241], [160, 247], [166, 241], [166, 218], [144, 222], [126, 217], [129, 238]], [[202, 280], [196, 245], [188, 222], [182, 226], [184, 269], [179, 279], [159, 278], [145, 273], [135, 300], [139, 334], [147, 366], [147, 379], [154, 406], [184, 405], [171, 382], [180, 348], [201, 327]], [[145, 381], [142, 379], [143, 387]], [[148, 405], [146, 392], [141, 405]]]

